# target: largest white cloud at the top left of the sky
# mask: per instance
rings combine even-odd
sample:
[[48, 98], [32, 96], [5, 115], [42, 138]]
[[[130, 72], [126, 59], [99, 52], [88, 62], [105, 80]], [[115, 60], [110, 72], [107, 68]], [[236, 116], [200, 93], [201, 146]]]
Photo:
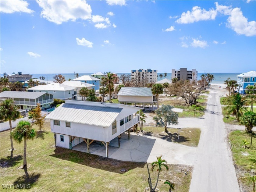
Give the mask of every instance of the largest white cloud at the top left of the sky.
[[56, 24], [91, 19], [91, 6], [84, 0], [37, 0], [37, 3], [43, 9], [41, 16]]

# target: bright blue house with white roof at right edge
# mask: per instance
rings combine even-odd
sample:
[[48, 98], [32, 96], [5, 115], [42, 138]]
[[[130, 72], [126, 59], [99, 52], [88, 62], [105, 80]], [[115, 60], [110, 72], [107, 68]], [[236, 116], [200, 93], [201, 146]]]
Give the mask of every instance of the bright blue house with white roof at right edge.
[[256, 83], [256, 71], [249, 71], [237, 75], [237, 84], [241, 87], [239, 89], [240, 94], [246, 94], [246, 87], [248, 85], [254, 85]]

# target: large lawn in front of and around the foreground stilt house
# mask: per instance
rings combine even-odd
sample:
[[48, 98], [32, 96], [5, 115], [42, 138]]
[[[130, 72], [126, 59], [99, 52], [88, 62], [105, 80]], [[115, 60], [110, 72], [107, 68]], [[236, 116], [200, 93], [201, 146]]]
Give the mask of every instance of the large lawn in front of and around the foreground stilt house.
[[[37, 126], [33, 126], [38, 130]], [[145, 163], [124, 162], [54, 146], [50, 123], [44, 131], [37, 131], [33, 141], [27, 142], [27, 176], [23, 169], [23, 143], [14, 142], [11, 157], [9, 131], [0, 133], [1, 184], [31, 184], [31, 191], [145, 191], [148, 173]], [[150, 165], [151, 166], [151, 165]], [[120, 169], [128, 171], [121, 173]], [[165, 180], [175, 183], [176, 191], [189, 191], [192, 166], [169, 165], [160, 173], [158, 188], [168, 191]], [[187, 172], [187, 175], [184, 174]], [[155, 183], [157, 172], [151, 171]], [[2, 191], [4, 191], [2, 189]], [[21, 191], [25, 191], [24, 189]]]

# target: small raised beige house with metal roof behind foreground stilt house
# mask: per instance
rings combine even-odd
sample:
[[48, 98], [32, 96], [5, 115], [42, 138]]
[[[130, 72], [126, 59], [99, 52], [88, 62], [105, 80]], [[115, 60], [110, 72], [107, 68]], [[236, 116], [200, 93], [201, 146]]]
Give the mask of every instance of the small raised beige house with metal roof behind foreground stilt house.
[[[150, 87], [122, 87], [118, 92], [119, 103], [142, 103], [142, 108], [154, 110], [157, 105], [157, 95], [152, 94]], [[145, 106], [146, 104], [146, 106]]]

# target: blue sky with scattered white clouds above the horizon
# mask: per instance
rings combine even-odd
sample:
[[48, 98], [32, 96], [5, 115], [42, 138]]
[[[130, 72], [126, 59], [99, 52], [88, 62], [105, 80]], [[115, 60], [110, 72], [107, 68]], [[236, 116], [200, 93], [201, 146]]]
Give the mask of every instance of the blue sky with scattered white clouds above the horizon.
[[255, 1], [1, 1], [1, 73], [256, 70]]

